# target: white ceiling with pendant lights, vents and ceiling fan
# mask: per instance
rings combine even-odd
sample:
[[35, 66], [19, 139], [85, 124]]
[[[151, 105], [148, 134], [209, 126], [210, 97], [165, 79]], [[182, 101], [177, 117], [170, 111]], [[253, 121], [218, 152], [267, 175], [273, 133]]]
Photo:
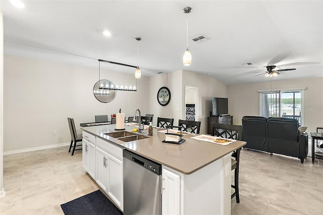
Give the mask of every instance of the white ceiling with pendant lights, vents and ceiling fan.
[[[188, 70], [246, 84], [269, 80], [253, 73], [268, 64], [297, 62], [310, 64], [282, 66], [296, 70], [275, 79], [323, 76], [323, 1], [22, 1], [23, 9], [0, 3], [5, 55], [93, 68], [97, 59], [137, 66], [135, 37], [141, 37], [143, 76]], [[182, 12], [187, 6], [188, 15]], [[187, 17], [191, 66], [182, 62]], [[201, 34], [209, 40], [191, 40]]]

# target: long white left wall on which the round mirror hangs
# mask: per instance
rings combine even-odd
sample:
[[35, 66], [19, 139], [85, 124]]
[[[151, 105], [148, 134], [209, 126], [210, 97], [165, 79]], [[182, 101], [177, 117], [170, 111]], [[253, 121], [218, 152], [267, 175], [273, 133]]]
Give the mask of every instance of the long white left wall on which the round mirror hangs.
[[[96, 100], [97, 61], [93, 68], [13, 56], [4, 58], [4, 151], [71, 141], [67, 118], [94, 122], [94, 115], [110, 115], [119, 109], [126, 117], [136, 109], [149, 112], [149, 78], [138, 80], [137, 92], [118, 91], [109, 103]], [[134, 75], [102, 70], [101, 79], [135, 83]], [[57, 135], [52, 135], [57, 131]]]

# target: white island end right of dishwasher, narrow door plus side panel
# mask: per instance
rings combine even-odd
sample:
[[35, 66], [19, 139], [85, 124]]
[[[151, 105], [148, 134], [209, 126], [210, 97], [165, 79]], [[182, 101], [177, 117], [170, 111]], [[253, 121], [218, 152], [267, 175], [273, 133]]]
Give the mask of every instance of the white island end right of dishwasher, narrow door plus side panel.
[[231, 175], [226, 174], [227, 165], [231, 167], [231, 154], [189, 175], [163, 166], [162, 214], [230, 214]]

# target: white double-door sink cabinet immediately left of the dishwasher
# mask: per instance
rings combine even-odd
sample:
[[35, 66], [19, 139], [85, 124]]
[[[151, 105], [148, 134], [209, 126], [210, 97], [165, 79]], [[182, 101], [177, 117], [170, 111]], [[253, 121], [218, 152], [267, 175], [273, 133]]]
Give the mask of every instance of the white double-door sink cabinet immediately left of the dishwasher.
[[99, 144], [96, 147], [96, 183], [123, 211], [122, 149], [98, 138], [97, 143]]

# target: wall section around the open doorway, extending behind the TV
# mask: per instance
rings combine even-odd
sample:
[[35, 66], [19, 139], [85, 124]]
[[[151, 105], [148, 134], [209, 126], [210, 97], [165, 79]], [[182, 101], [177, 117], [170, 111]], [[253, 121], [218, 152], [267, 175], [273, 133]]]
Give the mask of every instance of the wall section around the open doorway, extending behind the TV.
[[[201, 121], [200, 134], [207, 133], [207, 117], [212, 110], [212, 97], [227, 97], [227, 85], [210, 76], [183, 71], [183, 92], [185, 92], [185, 86], [198, 88], [198, 119], [196, 121]], [[183, 99], [183, 108], [184, 102]], [[230, 104], [229, 114], [231, 114]], [[185, 119], [184, 115], [182, 117]]]

